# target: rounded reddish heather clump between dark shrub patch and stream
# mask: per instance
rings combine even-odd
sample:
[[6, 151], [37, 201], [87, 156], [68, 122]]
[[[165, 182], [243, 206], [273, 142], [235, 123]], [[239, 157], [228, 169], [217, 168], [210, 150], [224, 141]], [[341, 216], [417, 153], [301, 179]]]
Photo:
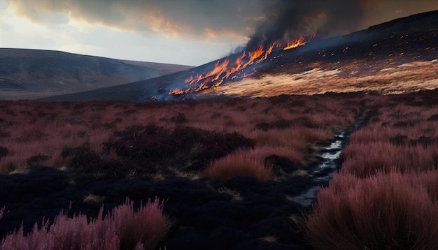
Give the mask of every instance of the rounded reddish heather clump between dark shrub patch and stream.
[[263, 161], [255, 159], [248, 152], [239, 151], [211, 163], [202, 176], [210, 180], [253, 176], [260, 182], [266, 182], [272, 179], [272, 168], [264, 166]]

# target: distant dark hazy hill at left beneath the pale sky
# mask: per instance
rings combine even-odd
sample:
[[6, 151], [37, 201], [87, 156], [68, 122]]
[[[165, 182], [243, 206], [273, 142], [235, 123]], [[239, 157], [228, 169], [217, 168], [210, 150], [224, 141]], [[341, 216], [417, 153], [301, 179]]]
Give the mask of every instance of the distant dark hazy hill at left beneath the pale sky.
[[50, 50], [0, 48], [0, 99], [71, 94], [148, 80], [189, 68], [192, 67]]

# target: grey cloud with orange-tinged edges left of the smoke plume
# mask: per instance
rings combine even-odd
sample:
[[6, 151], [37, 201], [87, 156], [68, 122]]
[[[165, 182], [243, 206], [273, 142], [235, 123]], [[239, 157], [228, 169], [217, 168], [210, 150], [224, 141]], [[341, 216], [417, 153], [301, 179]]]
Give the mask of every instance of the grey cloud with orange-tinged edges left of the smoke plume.
[[15, 15], [40, 24], [74, 19], [146, 36], [161, 34], [216, 43], [243, 43], [263, 19], [262, 0], [5, 1]]

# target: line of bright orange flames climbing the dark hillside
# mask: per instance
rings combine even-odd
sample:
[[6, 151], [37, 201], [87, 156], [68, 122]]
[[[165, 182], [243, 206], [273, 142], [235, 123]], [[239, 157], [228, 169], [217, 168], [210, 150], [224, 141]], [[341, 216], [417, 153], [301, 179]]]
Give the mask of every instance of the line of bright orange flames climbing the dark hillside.
[[[272, 43], [267, 47], [260, 45], [257, 49], [246, 52], [245, 50], [239, 54], [236, 59], [231, 60], [229, 58], [217, 61], [214, 68], [211, 71], [192, 75], [184, 82], [186, 84], [185, 89], [173, 89], [169, 91], [169, 95], [188, 94], [191, 92], [200, 91], [202, 89], [208, 89], [209, 87], [218, 87], [226, 79], [239, 79], [253, 75], [255, 67], [252, 67], [248, 71], [248, 66], [260, 64], [267, 60], [269, 54], [278, 48], [282, 50], [292, 50], [302, 45], [305, 45], [313, 36], [299, 36], [299, 38], [290, 41], [289, 43]], [[247, 70], [246, 70], [247, 69]]]

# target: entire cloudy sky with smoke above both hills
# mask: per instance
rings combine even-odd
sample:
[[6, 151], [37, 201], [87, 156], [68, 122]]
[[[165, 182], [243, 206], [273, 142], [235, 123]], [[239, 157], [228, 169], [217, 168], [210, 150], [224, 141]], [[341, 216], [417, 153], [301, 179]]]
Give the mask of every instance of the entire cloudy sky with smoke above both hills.
[[0, 0], [0, 47], [199, 66], [236, 48], [336, 36], [430, 0]]

